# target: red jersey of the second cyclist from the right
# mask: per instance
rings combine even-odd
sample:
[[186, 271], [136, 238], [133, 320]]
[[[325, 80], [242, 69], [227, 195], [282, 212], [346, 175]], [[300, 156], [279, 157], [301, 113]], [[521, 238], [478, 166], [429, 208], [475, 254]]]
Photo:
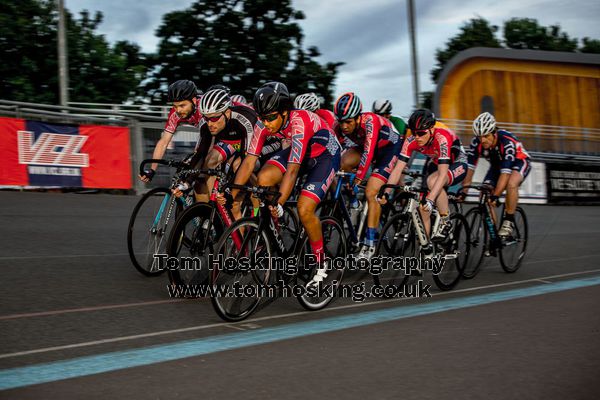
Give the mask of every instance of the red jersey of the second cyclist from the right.
[[413, 151], [431, 157], [435, 165], [466, 161], [460, 139], [449, 129], [434, 128], [433, 137], [424, 146], [419, 146], [416, 136], [407, 138], [402, 146], [400, 160], [408, 162]]

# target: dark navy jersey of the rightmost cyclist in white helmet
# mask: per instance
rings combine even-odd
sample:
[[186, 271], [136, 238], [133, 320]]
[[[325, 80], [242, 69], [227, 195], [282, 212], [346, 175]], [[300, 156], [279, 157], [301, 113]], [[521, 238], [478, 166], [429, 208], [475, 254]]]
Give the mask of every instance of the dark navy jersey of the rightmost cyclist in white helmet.
[[[484, 149], [479, 137], [474, 137], [467, 150], [469, 169], [475, 169], [480, 156], [488, 160], [492, 168], [509, 174], [518, 160], [528, 160], [529, 154], [523, 144], [512, 133], [498, 130], [498, 142], [492, 149]], [[522, 163], [518, 163], [519, 166]]]

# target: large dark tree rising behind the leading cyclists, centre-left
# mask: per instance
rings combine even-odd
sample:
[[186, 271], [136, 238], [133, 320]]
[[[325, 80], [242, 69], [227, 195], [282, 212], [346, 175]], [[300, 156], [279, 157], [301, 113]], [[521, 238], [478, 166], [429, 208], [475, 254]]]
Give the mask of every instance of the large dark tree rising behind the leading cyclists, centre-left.
[[330, 100], [341, 64], [321, 65], [318, 49], [302, 48], [296, 21], [303, 18], [290, 0], [198, 0], [166, 14], [146, 89], [153, 102], [164, 102], [170, 82], [191, 79], [204, 89], [224, 83], [251, 99], [262, 83], [280, 80], [292, 92], [316, 90]]

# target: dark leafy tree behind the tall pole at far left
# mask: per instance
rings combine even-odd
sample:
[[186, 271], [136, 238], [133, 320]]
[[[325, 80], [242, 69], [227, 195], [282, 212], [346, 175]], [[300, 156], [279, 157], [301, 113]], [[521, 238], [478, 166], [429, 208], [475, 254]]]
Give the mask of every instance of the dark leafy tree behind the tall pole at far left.
[[[96, 33], [102, 14], [65, 10], [71, 101], [122, 102], [139, 94], [145, 56], [132, 43], [110, 46]], [[0, 3], [0, 93], [17, 101], [58, 102], [58, 12], [52, 0]]]

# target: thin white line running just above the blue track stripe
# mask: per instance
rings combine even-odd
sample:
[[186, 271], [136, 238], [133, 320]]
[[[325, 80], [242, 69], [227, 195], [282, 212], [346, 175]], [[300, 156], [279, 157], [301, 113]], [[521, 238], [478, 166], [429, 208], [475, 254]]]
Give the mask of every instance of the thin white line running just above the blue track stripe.
[[[568, 277], [568, 276], [590, 274], [590, 273], [594, 273], [594, 272], [600, 272], [600, 269], [594, 269], [594, 270], [589, 270], [589, 271], [570, 272], [570, 273], [559, 274], [559, 275], [549, 275], [549, 276], [543, 276], [540, 278], [525, 279], [522, 281], [498, 283], [498, 284], [494, 284], [494, 285], [485, 285], [485, 286], [478, 286], [478, 287], [473, 287], [473, 288], [452, 290], [452, 291], [448, 291], [448, 292], [440, 292], [440, 293], [434, 294], [434, 297], [444, 296], [444, 295], [453, 294], [453, 293], [471, 292], [474, 290], [482, 290], [482, 289], [497, 288], [497, 287], [503, 287], [503, 286], [518, 285], [518, 284], [522, 284], [522, 283], [536, 282], [540, 279], [564, 278], [564, 277]], [[344, 305], [344, 306], [329, 307], [324, 310], [313, 311], [311, 313], [307, 313], [306, 311], [298, 311], [298, 312], [287, 313], [287, 314], [270, 315], [270, 316], [265, 316], [265, 317], [249, 319], [244, 322], [241, 322], [240, 324], [243, 325], [243, 324], [247, 324], [247, 323], [268, 321], [268, 320], [273, 320], [273, 319], [289, 318], [289, 317], [295, 317], [295, 316], [299, 316], [299, 315], [304, 315], [304, 316], [314, 315], [316, 313], [331, 312], [331, 311], [335, 311], [335, 310], [344, 310], [344, 309], [349, 309], [349, 308], [367, 307], [367, 306], [373, 306], [373, 305], [385, 304], [385, 303], [391, 303], [391, 302], [401, 302], [401, 301], [406, 301], [406, 300], [410, 300], [410, 299], [406, 299], [406, 298], [404, 298], [404, 299], [388, 299], [388, 300], [378, 300], [378, 301], [373, 301], [373, 302], [368, 302], [368, 303], [349, 304], [349, 305]], [[90, 342], [74, 343], [74, 344], [63, 345], [63, 346], [46, 347], [46, 348], [35, 349], [35, 350], [27, 350], [27, 351], [15, 352], [15, 353], [0, 354], [0, 359], [26, 356], [26, 355], [38, 354], [38, 353], [47, 353], [47, 352], [57, 351], [57, 350], [74, 349], [74, 348], [79, 348], [79, 347], [96, 346], [96, 345], [105, 344], [105, 343], [115, 343], [115, 342], [122, 342], [122, 341], [127, 341], [127, 340], [143, 339], [143, 338], [154, 337], [154, 336], [171, 335], [171, 334], [176, 334], [176, 333], [198, 331], [198, 330], [204, 330], [204, 329], [210, 329], [210, 328], [218, 328], [218, 327], [232, 328], [233, 326], [234, 326], [233, 324], [228, 324], [225, 322], [219, 322], [219, 323], [209, 324], [209, 325], [197, 325], [197, 326], [190, 326], [187, 328], [179, 328], [179, 329], [171, 329], [171, 330], [158, 331], [158, 332], [142, 333], [139, 335], [120, 336], [120, 337], [110, 338], [110, 339], [101, 339], [101, 340], [94, 340], [94, 341], [90, 341]]]

